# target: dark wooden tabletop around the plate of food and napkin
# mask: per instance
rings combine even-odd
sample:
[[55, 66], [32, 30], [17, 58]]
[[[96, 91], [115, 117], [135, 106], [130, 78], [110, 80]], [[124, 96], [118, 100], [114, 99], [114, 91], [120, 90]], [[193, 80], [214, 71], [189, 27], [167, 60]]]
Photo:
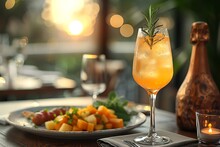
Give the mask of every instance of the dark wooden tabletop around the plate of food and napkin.
[[[23, 101], [9, 101], [0, 103], [0, 115], [8, 114], [17, 109], [37, 106], [48, 105], [74, 105], [81, 106], [89, 105], [92, 101], [88, 97], [76, 97], [76, 98], [56, 98], [56, 99], [41, 99], [41, 100], [23, 100]], [[149, 117], [143, 124], [149, 126]], [[143, 126], [142, 126], [143, 127]], [[176, 126], [176, 117], [174, 113], [156, 109], [156, 129], [167, 130], [175, 132], [184, 136], [196, 138], [195, 132], [181, 131]], [[134, 129], [133, 131], [137, 131]], [[96, 147], [97, 139], [54, 139], [42, 136], [30, 134], [21, 130], [18, 130], [10, 125], [0, 125], [0, 146], [76, 146], [76, 147]]]

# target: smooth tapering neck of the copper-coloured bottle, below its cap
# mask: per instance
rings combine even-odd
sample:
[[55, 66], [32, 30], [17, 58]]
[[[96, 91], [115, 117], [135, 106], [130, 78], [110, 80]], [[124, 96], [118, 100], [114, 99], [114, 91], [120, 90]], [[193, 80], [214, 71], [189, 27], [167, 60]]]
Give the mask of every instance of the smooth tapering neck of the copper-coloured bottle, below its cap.
[[197, 42], [192, 45], [189, 72], [193, 74], [210, 73], [206, 42]]

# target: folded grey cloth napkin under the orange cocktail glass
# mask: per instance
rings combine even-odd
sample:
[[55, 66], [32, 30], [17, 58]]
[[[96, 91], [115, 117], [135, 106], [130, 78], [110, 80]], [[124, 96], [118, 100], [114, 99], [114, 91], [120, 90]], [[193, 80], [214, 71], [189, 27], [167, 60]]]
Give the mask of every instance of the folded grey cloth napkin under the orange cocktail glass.
[[[154, 145], [154, 147], [181, 147], [181, 146], [198, 146], [197, 139], [186, 137], [183, 135], [179, 135], [176, 133], [168, 132], [168, 131], [157, 131], [157, 134], [160, 136], [167, 136], [171, 139], [171, 142], [165, 145]], [[122, 136], [114, 136], [98, 139], [97, 143], [100, 147], [128, 147], [123, 140], [133, 141], [134, 138], [138, 136], [146, 135], [146, 133], [136, 133], [130, 135], [122, 135]], [[194, 145], [192, 145], [195, 143]], [[140, 147], [150, 147], [149, 145], [141, 145]]]

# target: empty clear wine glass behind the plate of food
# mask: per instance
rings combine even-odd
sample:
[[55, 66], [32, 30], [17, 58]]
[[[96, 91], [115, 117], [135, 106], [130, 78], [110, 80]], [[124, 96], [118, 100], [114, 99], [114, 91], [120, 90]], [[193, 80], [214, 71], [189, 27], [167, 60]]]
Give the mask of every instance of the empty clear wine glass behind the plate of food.
[[80, 78], [82, 88], [96, 101], [106, 89], [105, 55], [83, 54]]

